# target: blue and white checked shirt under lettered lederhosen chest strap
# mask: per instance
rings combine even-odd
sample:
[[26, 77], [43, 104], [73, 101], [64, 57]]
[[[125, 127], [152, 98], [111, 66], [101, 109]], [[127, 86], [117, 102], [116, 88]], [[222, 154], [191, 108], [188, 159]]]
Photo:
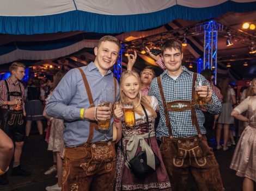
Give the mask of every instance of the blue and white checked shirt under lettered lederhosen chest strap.
[[[167, 71], [164, 71], [161, 74], [163, 93], [167, 103], [176, 100], [191, 100], [193, 72], [188, 71], [185, 66], [183, 66], [182, 69], [183, 71], [176, 80], [170, 77]], [[205, 78], [198, 74], [197, 80], [205, 80]], [[209, 83], [208, 86], [211, 87]], [[156, 129], [156, 135], [158, 138], [162, 136], [169, 136], [169, 131], [166, 126], [166, 118], [164, 116], [161, 94], [156, 78], [154, 78], [151, 82], [149, 95], [154, 95], [157, 98], [160, 107], [161, 117], [159, 125]], [[214, 92], [212, 92], [212, 100], [213, 103], [211, 105], [206, 105], [208, 112], [212, 114], [221, 113], [221, 102], [218, 100]], [[200, 126], [200, 131], [205, 134], [206, 130], [204, 128], [204, 114], [199, 106], [196, 106], [196, 114]], [[185, 138], [198, 135], [196, 125], [192, 125], [191, 110], [169, 112], [169, 119], [174, 137]]]

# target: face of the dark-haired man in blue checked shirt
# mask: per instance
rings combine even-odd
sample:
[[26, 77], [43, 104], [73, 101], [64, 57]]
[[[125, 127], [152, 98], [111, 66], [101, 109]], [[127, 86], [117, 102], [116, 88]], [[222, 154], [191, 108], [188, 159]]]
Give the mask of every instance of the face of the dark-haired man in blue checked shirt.
[[166, 48], [163, 51], [162, 59], [163, 63], [167, 68], [169, 75], [176, 76], [182, 72], [182, 62], [183, 54], [178, 48]]

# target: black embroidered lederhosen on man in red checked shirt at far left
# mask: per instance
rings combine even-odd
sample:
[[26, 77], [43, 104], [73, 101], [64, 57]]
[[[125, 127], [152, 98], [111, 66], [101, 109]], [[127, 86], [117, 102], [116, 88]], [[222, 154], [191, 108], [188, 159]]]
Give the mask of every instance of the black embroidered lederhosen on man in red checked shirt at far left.
[[[20, 92], [10, 92], [7, 80], [4, 80], [5, 86], [7, 88], [7, 101], [10, 100], [10, 96], [21, 98], [21, 85]], [[0, 127], [2, 130], [7, 133], [14, 142], [24, 141], [25, 138], [25, 122], [23, 116], [23, 110], [10, 110], [10, 105], [8, 105], [8, 109], [0, 108]]]

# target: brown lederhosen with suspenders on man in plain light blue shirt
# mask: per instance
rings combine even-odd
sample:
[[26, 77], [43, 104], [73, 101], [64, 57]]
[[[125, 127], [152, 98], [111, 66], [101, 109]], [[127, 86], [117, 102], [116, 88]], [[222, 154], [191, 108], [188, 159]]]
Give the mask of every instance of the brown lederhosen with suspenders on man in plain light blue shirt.
[[[92, 92], [81, 68], [84, 86], [90, 107], [94, 107]], [[114, 95], [117, 93], [117, 80], [114, 78]], [[114, 105], [114, 104], [113, 104]], [[113, 190], [115, 172], [115, 146], [111, 141], [91, 143], [97, 122], [90, 121], [87, 142], [77, 147], [65, 147], [63, 160], [62, 190]]]

